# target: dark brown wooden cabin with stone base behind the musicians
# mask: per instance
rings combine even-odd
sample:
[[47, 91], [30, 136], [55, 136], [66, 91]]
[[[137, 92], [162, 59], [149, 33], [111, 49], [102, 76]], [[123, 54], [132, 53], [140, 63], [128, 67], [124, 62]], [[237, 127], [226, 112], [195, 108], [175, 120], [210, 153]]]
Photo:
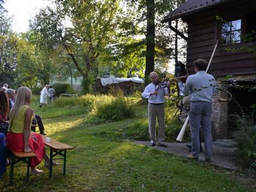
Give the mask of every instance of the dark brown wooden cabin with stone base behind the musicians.
[[[187, 23], [187, 37], [171, 26], [172, 20], [176, 19]], [[168, 22], [170, 29], [187, 41], [186, 67], [189, 74], [194, 73], [195, 59], [202, 58], [209, 62], [219, 40], [208, 73], [213, 74], [217, 81], [231, 75], [241, 84], [256, 84], [256, 38], [252, 38], [256, 32], [255, 0], [187, 0], [165, 16], [162, 22]], [[248, 38], [251, 40], [248, 41]], [[237, 48], [253, 49], [254, 53], [248, 50], [235, 51]], [[223, 103], [216, 98], [213, 105], [212, 126], [215, 138], [230, 136], [232, 119], [227, 117], [239, 111], [235, 102], [247, 108], [255, 104], [255, 91], [243, 93], [232, 87], [228, 90], [234, 99]], [[226, 96], [219, 93], [220, 97]]]

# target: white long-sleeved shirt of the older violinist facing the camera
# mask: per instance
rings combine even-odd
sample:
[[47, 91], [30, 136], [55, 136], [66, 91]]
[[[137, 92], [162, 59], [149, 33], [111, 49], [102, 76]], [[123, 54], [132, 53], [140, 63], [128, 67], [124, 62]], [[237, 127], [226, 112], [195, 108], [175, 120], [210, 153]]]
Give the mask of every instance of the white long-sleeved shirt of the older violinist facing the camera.
[[168, 89], [167, 87], [159, 88], [157, 95], [151, 95], [152, 93], [155, 92], [155, 88], [156, 88], [155, 84], [153, 83], [148, 84], [142, 93], [142, 97], [145, 99], [148, 99], [148, 102], [151, 104], [163, 104], [165, 102], [165, 95], [169, 95]]

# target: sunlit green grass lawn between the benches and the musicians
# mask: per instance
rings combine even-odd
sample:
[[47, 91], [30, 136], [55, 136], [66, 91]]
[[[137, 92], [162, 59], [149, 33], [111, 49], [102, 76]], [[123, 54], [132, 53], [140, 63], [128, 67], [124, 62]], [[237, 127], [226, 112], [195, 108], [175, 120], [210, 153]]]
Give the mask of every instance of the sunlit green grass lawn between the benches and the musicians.
[[56, 166], [49, 179], [41, 163], [44, 173], [24, 183], [26, 168], [18, 167], [9, 187], [8, 166], [0, 191], [247, 191], [226, 170], [120, 139], [122, 130], [145, 117], [95, 123], [90, 114], [81, 115], [79, 106], [33, 106], [42, 115], [47, 136], [75, 147], [67, 151], [66, 177], [62, 166]]

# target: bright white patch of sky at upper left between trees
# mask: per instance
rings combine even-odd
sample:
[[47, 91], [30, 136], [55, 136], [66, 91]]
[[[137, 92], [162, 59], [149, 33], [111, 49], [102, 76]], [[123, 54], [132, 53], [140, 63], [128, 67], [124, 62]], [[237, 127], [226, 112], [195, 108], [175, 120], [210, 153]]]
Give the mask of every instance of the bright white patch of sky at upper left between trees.
[[3, 7], [13, 16], [13, 30], [21, 33], [29, 30], [31, 16], [49, 4], [47, 0], [5, 0]]

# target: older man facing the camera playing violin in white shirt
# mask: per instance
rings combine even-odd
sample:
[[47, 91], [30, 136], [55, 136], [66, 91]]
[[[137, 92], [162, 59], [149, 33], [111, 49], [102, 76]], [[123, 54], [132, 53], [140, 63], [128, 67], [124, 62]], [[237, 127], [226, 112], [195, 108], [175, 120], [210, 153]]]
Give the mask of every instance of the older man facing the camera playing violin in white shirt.
[[[143, 98], [148, 99], [148, 129], [150, 133], [150, 145], [158, 144], [161, 147], [167, 147], [165, 141], [165, 95], [170, 93], [170, 83], [167, 87], [159, 87], [158, 74], [156, 72], [150, 73], [152, 83], [145, 87], [142, 94]], [[155, 125], [158, 119], [158, 138], [156, 139]]]

